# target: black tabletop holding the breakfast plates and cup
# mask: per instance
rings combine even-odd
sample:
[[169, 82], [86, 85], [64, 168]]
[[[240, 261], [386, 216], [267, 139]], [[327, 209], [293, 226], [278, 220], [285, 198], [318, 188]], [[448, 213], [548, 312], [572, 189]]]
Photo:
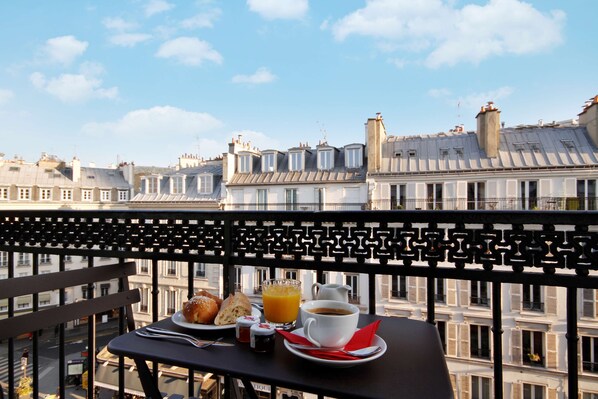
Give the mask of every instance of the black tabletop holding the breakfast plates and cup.
[[[174, 341], [148, 340], [134, 332], [114, 338], [108, 350], [133, 358], [138, 365], [156, 361], [212, 372], [241, 379], [246, 387], [253, 381], [337, 398], [453, 398], [437, 329], [422, 321], [367, 314], [360, 315], [359, 326], [377, 319], [382, 319], [377, 334], [386, 341], [388, 350], [379, 359], [351, 368], [332, 368], [299, 358], [285, 348], [280, 336], [272, 353], [255, 353], [247, 344], [239, 343], [197, 349]], [[234, 329], [199, 334], [170, 319], [154, 325], [201, 338], [225, 336], [225, 341], [235, 342]], [[146, 395], [152, 397], [147, 389]]]

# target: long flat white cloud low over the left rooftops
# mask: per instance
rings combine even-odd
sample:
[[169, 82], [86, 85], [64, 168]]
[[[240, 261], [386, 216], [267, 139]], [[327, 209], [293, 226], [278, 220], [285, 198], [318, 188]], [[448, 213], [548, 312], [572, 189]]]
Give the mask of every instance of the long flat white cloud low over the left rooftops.
[[194, 136], [220, 128], [223, 123], [207, 113], [185, 111], [172, 106], [156, 106], [131, 111], [115, 122], [92, 122], [82, 127], [92, 136], [153, 138]]

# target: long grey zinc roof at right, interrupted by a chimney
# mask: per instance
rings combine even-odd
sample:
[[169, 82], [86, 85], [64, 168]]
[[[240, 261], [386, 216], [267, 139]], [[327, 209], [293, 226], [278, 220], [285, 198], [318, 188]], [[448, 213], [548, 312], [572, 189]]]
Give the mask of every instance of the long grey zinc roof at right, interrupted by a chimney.
[[388, 137], [381, 172], [431, 173], [485, 169], [598, 165], [585, 127], [528, 126], [500, 131], [499, 153], [489, 158], [474, 132]]

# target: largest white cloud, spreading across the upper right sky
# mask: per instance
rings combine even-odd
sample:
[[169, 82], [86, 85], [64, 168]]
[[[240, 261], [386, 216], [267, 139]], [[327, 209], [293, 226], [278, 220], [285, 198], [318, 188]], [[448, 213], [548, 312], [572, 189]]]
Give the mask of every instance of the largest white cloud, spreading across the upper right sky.
[[393, 41], [403, 50], [423, 52], [431, 68], [546, 51], [563, 41], [562, 11], [541, 13], [521, 0], [490, 0], [462, 8], [456, 4], [370, 0], [336, 21], [332, 32], [339, 41], [351, 35]]

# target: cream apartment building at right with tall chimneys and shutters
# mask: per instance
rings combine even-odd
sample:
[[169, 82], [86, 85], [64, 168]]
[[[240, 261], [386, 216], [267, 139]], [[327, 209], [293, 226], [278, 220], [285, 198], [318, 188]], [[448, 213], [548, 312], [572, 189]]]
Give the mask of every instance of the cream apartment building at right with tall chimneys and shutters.
[[[504, 127], [492, 103], [477, 129], [398, 137], [380, 115], [367, 122], [372, 209], [595, 210], [598, 201], [598, 96], [578, 120]], [[439, 266], [442, 266], [439, 264]], [[475, 265], [474, 265], [475, 266]], [[381, 312], [425, 319], [426, 281], [385, 277]], [[436, 320], [455, 395], [491, 398], [492, 315], [488, 283], [437, 280]], [[598, 316], [594, 290], [580, 290], [579, 387], [598, 398]], [[503, 284], [504, 394], [563, 399], [566, 360], [564, 288]]]

